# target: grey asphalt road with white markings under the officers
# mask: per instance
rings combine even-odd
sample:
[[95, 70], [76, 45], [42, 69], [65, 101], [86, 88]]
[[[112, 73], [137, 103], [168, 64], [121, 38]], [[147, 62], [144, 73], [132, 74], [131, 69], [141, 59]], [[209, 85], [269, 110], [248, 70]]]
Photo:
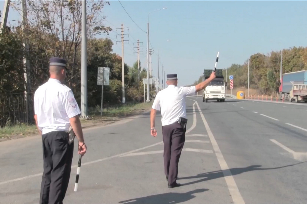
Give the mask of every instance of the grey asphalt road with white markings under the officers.
[[[77, 150], [64, 203], [306, 203], [307, 106], [187, 99], [178, 188], [167, 188], [161, 117], [149, 114], [84, 130], [88, 152], [74, 192]], [[0, 143], [0, 203], [38, 203], [39, 137]]]

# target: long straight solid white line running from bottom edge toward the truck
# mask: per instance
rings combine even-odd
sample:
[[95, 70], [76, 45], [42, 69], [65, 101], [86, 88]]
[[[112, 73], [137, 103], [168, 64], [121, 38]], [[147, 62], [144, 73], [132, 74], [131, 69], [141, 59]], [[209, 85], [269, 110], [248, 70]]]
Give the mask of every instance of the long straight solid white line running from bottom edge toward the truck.
[[[190, 100], [192, 100], [192, 99], [190, 99]], [[216, 140], [215, 140], [215, 138], [214, 138], [214, 136], [211, 132], [211, 129], [210, 129], [205, 117], [204, 117], [204, 114], [201, 112], [200, 107], [199, 107], [197, 102], [196, 102], [196, 105], [197, 105], [197, 108], [199, 110], [200, 116], [201, 116], [201, 118], [204, 122], [205, 128], [207, 130], [208, 136], [209, 136], [211, 144], [213, 146], [213, 149], [215, 151], [216, 158], [217, 158], [217, 160], [220, 164], [220, 167], [221, 167], [221, 170], [223, 172], [226, 184], [228, 186], [228, 190], [230, 192], [231, 198], [232, 198], [234, 204], [239, 204], [239, 203], [245, 204], [245, 202], [242, 198], [242, 195], [240, 194], [240, 191], [237, 187], [237, 184], [235, 183], [235, 179], [233, 178], [231, 171], [229, 170], [229, 167], [228, 167], [228, 165], [227, 165], [227, 163], [226, 163], [226, 161], [223, 157], [223, 154], [220, 150], [220, 147], [218, 146], [218, 144], [217, 144], [217, 142], [216, 142]]]

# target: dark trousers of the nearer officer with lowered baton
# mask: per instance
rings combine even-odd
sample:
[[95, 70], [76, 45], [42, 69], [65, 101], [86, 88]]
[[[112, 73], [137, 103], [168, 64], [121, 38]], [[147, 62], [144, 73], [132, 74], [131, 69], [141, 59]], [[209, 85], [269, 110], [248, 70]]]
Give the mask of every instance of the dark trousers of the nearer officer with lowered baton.
[[63, 204], [68, 187], [74, 143], [68, 144], [68, 133], [52, 131], [42, 135], [44, 172], [40, 204]]

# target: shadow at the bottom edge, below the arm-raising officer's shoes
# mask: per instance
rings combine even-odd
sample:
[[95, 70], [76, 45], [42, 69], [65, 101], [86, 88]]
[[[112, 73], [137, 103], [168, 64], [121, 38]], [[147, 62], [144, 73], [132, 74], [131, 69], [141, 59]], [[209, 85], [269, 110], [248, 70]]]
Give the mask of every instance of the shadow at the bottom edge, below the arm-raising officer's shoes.
[[176, 204], [181, 202], [186, 202], [195, 198], [196, 196], [193, 195], [195, 193], [202, 193], [205, 191], [209, 191], [207, 188], [203, 189], [196, 189], [193, 191], [189, 191], [186, 193], [162, 193], [157, 195], [149, 195], [146, 197], [141, 198], [133, 198], [129, 200], [120, 201], [119, 203], [124, 204]]

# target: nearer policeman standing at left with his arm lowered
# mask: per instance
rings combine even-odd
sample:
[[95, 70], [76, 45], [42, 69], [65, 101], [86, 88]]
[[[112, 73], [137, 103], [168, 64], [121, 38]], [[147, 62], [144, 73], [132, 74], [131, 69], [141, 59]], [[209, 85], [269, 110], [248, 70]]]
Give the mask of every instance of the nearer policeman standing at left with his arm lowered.
[[50, 58], [49, 80], [34, 94], [34, 118], [42, 136], [44, 172], [40, 204], [62, 204], [68, 187], [74, 143], [68, 142], [69, 127], [79, 140], [78, 152], [86, 152], [79, 119], [80, 109], [72, 90], [65, 86], [66, 61]]

